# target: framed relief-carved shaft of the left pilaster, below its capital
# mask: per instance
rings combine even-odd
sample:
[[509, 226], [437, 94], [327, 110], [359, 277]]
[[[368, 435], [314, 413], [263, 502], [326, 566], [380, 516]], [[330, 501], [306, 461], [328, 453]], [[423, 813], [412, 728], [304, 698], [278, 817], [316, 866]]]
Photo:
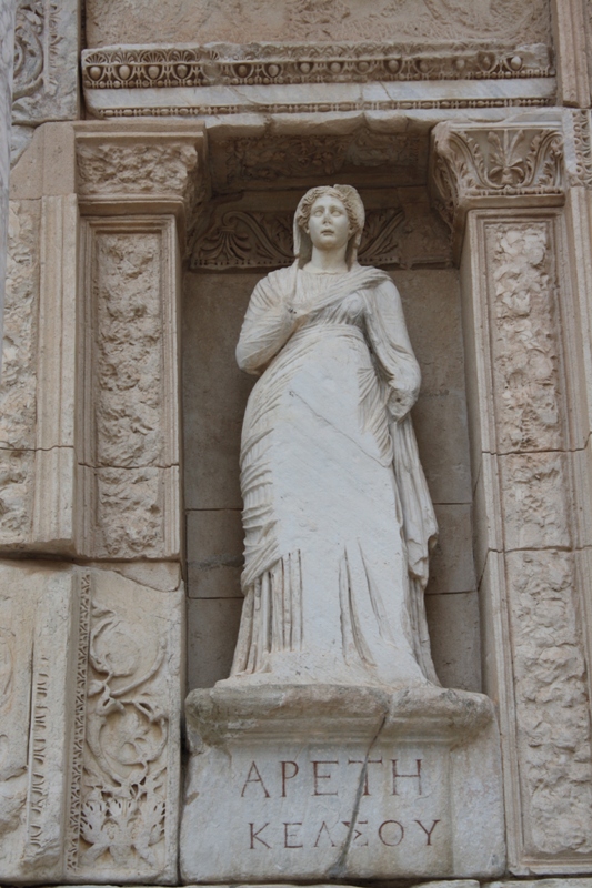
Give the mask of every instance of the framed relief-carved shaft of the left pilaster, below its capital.
[[179, 546], [175, 226], [87, 223], [84, 546], [169, 556]]

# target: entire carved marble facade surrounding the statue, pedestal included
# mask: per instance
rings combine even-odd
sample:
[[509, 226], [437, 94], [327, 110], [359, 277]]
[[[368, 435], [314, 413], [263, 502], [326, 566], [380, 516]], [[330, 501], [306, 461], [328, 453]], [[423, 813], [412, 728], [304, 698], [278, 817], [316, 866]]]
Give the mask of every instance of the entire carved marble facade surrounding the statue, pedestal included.
[[[371, 7], [14, 3], [0, 882], [592, 885], [592, 3]], [[233, 350], [337, 181], [422, 370], [445, 690], [228, 709]]]

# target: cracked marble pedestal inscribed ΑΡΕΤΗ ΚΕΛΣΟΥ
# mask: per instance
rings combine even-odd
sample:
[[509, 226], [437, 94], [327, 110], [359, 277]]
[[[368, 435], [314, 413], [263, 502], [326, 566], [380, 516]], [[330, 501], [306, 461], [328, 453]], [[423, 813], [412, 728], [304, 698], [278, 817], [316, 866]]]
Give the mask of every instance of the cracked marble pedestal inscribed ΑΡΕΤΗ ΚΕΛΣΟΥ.
[[488, 878], [504, 870], [491, 702], [433, 686], [194, 690], [187, 881]]

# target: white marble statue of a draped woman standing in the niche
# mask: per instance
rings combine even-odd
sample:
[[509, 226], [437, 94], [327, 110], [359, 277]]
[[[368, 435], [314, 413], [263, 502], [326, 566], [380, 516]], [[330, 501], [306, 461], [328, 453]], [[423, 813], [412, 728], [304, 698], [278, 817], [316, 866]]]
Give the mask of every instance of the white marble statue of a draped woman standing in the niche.
[[230, 679], [432, 682], [423, 593], [437, 525], [409, 411], [420, 371], [397, 287], [357, 261], [349, 185], [298, 205], [289, 269], [237, 347], [260, 374], [242, 432], [245, 595]]

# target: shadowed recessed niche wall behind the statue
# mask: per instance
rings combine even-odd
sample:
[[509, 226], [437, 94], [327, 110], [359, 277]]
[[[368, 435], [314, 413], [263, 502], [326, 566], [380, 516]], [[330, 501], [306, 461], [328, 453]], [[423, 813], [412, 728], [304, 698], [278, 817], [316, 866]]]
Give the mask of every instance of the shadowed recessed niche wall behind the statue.
[[[344, 144], [342, 137], [331, 139]], [[448, 233], [428, 200], [427, 140], [413, 151], [407, 144], [408, 165], [390, 169], [378, 162], [384, 160], [387, 143], [372, 149], [365, 137], [350, 149], [340, 143], [333, 167], [341, 163], [342, 169], [317, 175], [310, 174], [310, 147], [304, 164], [298, 153], [302, 140], [295, 141], [291, 154], [287, 145], [275, 145], [273, 153], [269, 141], [258, 154], [258, 140], [248, 139], [227, 143], [225, 153], [212, 147], [213, 198], [193, 233], [184, 273], [188, 687], [211, 687], [228, 676], [242, 608], [240, 433], [255, 381], [234, 359], [242, 320], [257, 282], [292, 261], [292, 216], [301, 194], [329, 180], [360, 189], [367, 208], [361, 261], [389, 271], [401, 292], [422, 370], [413, 422], [440, 526], [427, 589], [433, 658], [444, 686], [480, 690], [459, 272], [452, 268]], [[289, 158], [283, 167], [274, 160], [278, 151]], [[352, 157], [377, 162], [358, 169]], [[390, 186], [377, 188], [381, 181]], [[393, 181], [404, 184], [393, 188]]]

